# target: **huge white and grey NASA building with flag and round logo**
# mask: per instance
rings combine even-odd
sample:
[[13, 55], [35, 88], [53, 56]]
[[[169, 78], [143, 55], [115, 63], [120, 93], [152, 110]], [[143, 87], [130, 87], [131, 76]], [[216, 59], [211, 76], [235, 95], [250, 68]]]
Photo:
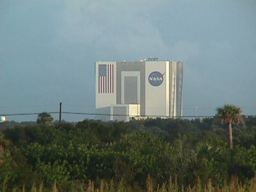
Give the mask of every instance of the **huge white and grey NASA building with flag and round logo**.
[[95, 77], [97, 119], [182, 116], [182, 62], [96, 62]]

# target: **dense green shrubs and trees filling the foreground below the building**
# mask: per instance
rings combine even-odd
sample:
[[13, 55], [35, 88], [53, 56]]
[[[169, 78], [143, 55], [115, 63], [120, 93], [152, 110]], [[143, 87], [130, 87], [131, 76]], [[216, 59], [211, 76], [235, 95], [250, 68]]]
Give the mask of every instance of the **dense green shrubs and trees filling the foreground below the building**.
[[256, 117], [243, 118], [233, 149], [218, 118], [6, 122], [0, 191], [254, 191]]

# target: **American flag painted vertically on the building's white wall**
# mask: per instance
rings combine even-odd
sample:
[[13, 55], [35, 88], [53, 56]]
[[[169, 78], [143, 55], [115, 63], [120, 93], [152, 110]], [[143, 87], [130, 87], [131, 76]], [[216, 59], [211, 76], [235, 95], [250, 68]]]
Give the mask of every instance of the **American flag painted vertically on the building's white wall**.
[[98, 93], [114, 93], [114, 65], [100, 64]]

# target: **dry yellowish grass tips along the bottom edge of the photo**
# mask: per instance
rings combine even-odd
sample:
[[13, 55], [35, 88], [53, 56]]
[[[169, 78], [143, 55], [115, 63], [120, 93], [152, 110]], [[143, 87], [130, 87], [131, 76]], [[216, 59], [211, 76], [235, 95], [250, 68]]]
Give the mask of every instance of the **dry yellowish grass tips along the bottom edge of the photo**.
[[[7, 182], [4, 182], [0, 188], [1, 192], [62, 192], [63, 190], [58, 189], [58, 184], [54, 182], [51, 189], [45, 188], [43, 181], [36, 186], [33, 184], [30, 189], [26, 189], [24, 185], [21, 189], [13, 188], [8, 189]], [[65, 190], [67, 191], [67, 190]], [[101, 180], [99, 186], [95, 186], [94, 182], [89, 180], [86, 186], [80, 185], [73, 186], [70, 192], [133, 192], [131, 186], [125, 185], [122, 180], [118, 184], [115, 184], [114, 180], [106, 182]], [[242, 184], [238, 181], [238, 178], [232, 177], [230, 184], [225, 184], [221, 188], [219, 186], [213, 186], [211, 180], [202, 186], [200, 178], [194, 186], [182, 186], [179, 188], [176, 178], [163, 184], [154, 186], [152, 179], [148, 176], [146, 180], [146, 189], [138, 192], [256, 192], [256, 177], [252, 178], [248, 184]]]

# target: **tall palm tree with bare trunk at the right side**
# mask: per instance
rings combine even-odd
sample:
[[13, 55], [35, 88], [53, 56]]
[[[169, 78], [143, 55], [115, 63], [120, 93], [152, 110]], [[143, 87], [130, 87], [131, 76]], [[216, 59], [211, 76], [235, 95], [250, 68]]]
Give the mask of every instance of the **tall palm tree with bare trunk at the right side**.
[[222, 118], [222, 122], [228, 123], [229, 148], [233, 148], [232, 123], [239, 124], [242, 120], [242, 109], [235, 105], [224, 105], [217, 108], [217, 116]]

